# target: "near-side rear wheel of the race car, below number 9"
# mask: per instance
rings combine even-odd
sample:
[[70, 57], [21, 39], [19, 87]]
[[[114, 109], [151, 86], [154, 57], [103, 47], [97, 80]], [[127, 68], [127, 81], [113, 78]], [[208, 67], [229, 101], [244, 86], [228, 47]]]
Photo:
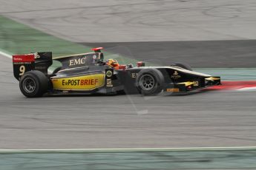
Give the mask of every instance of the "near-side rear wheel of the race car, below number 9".
[[48, 78], [44, 73], [33, 70], [22, 75], [19, 89], [27, 98], [41, 97], [48, 89]]

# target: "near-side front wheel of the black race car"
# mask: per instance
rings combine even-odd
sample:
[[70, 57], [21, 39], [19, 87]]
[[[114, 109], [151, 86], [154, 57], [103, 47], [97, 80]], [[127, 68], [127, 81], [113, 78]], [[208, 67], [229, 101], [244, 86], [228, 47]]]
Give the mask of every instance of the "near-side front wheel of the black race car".
[[163, 90], [164, 77], [158, 69], [142, 69], [136, 82], [142, 95], [157, 95]]

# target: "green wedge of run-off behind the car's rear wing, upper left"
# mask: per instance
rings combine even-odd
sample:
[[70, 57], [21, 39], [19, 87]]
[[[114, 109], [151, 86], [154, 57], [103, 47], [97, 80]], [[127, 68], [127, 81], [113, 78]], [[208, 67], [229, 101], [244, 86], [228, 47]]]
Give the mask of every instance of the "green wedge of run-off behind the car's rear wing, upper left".
[[52, 51], [53, 56], [88, 52], [90, 47], [65, 41], [0, 16], [0, 49], [11, 54]]

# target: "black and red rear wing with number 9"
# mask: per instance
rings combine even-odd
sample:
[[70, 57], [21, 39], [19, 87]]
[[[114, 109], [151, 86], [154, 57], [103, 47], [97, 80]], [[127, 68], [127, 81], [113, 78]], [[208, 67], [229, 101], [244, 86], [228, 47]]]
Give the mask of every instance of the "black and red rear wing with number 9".
[[47, 75], [47, 69], [52, 64], [52, 52], [13, 55], [13, 74], [18, 81], [25, 72], [31, 70], [39, 70]]

